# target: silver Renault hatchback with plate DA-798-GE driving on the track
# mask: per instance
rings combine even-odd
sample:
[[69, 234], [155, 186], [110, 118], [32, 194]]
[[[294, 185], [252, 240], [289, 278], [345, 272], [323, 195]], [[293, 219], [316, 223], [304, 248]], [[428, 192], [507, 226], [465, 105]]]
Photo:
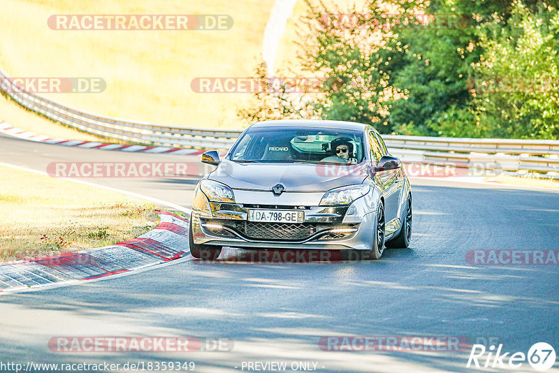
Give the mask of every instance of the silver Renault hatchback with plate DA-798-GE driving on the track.
[[196, 185], [190, 252], [222, 247], [356, 250], [379, 259], [407, 247], [412, 191], [400, 160], [371, 126], [280, 120], [249, 126]]

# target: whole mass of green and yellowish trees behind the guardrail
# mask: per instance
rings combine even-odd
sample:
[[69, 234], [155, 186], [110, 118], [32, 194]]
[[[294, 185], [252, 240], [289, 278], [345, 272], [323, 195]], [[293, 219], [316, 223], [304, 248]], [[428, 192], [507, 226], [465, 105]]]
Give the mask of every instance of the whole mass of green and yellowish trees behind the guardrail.
[[[317, 92], [264, 92], [258, 115], [242, 117], [323, 117], [426, 136], [559, 137], [556, 0], [365, 0], [349, 13], [306, 1], [300, 61], [323, 78]], [[491, 89], [510, 80], [508, 91]]]

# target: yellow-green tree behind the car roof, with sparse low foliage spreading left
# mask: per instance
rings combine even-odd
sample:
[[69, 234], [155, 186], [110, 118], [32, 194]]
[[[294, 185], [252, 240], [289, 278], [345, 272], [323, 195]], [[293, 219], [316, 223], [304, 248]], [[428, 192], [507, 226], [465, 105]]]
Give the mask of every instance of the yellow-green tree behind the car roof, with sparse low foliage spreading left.
[[[390, 89], [386, 89], [388, 77], [377, 54], [384, 43], [382, 33], [363, 22], [363, 10], [353, 8], [347, 13], [322, 2], [305, 1], [309, 13], [304, 20], [305, 31], [300, 33], [300, 63], [305, 75], [317, 77], [321, 84], [296, 97], [294, 104], [289, 92], [280, 92], [279, 98], [277, 92], [256, 94], [259, 107], [240, 110], [240, 117], [251, 120], [274, 119], [285, 113], [287, 117], [303, 118], [318, 115], [375, 124], [379, 131], [389, 133], [391, 129], [384, 121], [388, 114], [384, 96]], [[344, 23], [344, 17], [351, 22]], [[263, 73], [261, 66], [256, 74], [266, 79]], [[298, 110], [301, 106], [305, 110]]]

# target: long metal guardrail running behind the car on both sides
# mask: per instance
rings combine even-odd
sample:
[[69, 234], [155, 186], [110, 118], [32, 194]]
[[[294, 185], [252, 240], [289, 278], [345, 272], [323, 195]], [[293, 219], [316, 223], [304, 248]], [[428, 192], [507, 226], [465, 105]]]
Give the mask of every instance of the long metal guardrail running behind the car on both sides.
[[[94, 114], [15, 87], [1, 68], [0, 91], [25, 108], [66, 126], [140, 144], [228, 149], [241, 133], [234, 129], [183, 128]], [[475, 163], [476, 167], [486, 170], [500, 168], [514, 173], [539, 173], [559, 178], [559, 140], [382, 137], [391, 152], [403, 161]]]

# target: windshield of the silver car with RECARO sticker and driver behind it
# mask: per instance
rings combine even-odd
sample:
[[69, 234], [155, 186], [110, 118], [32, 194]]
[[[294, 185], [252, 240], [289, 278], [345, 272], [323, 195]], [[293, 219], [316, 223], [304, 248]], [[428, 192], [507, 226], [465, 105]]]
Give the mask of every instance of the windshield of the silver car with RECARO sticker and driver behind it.
[[255, 128], [231, 150], [235, 162], [337, 163], [363, 161], [363, 133], [348, 129]]

